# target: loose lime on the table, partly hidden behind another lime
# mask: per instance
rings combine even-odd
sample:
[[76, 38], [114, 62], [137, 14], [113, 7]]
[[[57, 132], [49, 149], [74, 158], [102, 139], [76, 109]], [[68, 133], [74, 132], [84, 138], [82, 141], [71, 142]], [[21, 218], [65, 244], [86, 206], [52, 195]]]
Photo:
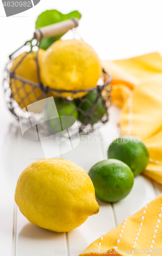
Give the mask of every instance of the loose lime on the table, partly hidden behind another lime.
[[147, 147], [134, 136], [122, 136], [114, 140], [107, 151], [107, 156], [126, 163], [134, 176], [141, 174], [149, 161]]

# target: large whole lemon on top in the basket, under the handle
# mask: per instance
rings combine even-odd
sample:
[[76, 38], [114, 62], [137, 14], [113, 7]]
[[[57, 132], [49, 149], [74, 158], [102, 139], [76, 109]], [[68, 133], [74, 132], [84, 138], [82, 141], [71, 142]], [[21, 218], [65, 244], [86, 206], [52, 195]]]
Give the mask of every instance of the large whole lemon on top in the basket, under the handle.
[[[83, 40], [57, 40], [43, 56], [41, 75], [43, 84], [52, 89], [77, 91], [93, 88], [101, 75], [100, 60]], [[85, 93], [78, 95], [84, 96]], [[78, 95], [62, 93], [63, 97], [76, 98]]]

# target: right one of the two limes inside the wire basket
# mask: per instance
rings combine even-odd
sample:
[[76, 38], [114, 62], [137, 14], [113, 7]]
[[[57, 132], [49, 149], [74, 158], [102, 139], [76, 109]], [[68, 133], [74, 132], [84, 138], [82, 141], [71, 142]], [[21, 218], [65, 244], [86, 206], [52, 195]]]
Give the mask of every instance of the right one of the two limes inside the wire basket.
[[[75, 102], [78, 106], [78, 108], [81, 109], [79, 112], [79, 117], [78, 120], [82, 123], [85, 122], [87, 114], [90, 111], [90, 108], [92, 104], [95, 102], [97, 98], [98, 92], [97, 90], [94, 90], [93, 92], [87, 94], [86, 96], [83, 97], [83, 101], [80, 99], [76, 99]], [[106, 110], [103, 106], [103, 100], [99, 98], [97, 102], [94, 105], [94, 108], [92, 109], [92, 118], [90, 119], [89, 123], [94, 124], [98, 120], [100, 120], [103, 115], [106, 113]]]

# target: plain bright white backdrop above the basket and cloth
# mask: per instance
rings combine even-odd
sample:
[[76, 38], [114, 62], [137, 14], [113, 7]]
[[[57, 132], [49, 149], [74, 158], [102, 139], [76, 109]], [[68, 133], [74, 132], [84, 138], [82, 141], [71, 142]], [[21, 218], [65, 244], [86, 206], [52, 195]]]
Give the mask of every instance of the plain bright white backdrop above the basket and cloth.
[[6, 17], [0, 1], [0, 80], [8, 55], [33, 37], [37, 16], [47, 9], [78, 10], [82, 19], [77, 30], [101, 59], [162, 52], [161, 0], [41, 0], [11, 17]]

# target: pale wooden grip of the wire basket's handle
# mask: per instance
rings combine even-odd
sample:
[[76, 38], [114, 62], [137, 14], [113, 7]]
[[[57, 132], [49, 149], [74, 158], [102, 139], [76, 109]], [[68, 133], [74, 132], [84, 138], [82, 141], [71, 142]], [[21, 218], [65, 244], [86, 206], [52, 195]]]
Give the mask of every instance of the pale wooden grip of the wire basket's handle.
[[58, 22], [58, 23], [37, 29], [34, 33], [34, 39], [40, 40], [42, 38], [64, 34], [70, 29], [76, 28], [77, 26], [78, 26], [77, 18], [67, 19], [67, 20], [64, 20], [63, 22]]

